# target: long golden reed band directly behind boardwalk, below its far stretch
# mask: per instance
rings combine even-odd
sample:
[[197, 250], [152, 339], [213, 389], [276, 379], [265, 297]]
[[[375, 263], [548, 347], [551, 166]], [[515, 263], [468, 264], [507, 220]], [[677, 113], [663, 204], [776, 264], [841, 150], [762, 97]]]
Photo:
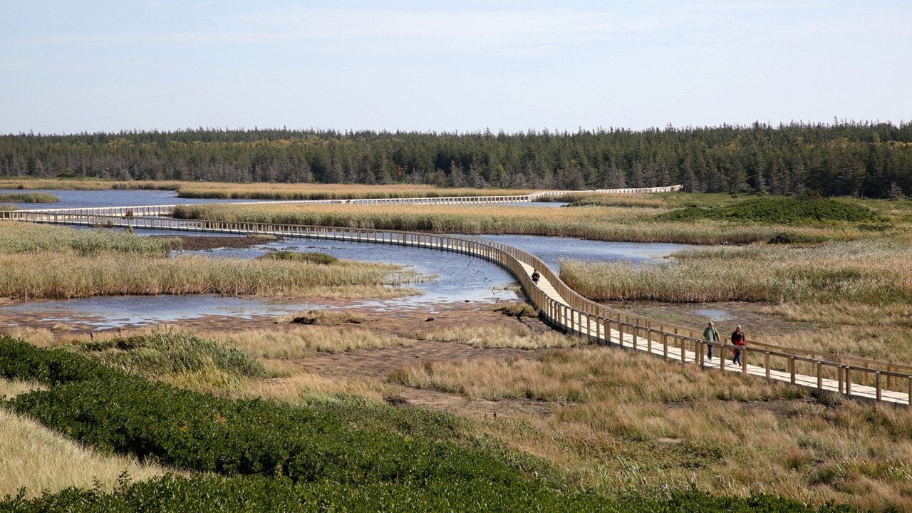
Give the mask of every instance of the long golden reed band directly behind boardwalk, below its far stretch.
[[855, 226], [789, 226], [657, 221], [668, 209], [587, 206], [553, 208], [509, 205], [201, 204], [181, 205], [188, 219], [287, 225], [330, 225], [434, 233], [573, 236], [593, 240], [747, 244], [785, 237], [799, 242], [852, 239]]

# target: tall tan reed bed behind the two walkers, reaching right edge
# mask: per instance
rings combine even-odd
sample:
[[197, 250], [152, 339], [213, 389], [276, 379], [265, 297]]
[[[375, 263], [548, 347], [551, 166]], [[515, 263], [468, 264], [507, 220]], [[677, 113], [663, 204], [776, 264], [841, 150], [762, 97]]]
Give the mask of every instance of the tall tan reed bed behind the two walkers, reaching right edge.
[[906, 241], [867, 238], [814, 247], [691, 249], [673, 262], [561, 262], [561, 279], [595, 300], [912, 303]]

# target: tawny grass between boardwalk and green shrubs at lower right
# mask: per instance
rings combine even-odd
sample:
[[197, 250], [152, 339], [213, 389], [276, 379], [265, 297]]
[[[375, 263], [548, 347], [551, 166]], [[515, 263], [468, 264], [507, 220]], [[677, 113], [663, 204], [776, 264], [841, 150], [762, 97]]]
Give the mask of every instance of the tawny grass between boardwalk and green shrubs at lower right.
[[532, 399], [553, 414], [482, 424], [586, 486], [651, 493], [694, 486], [860, 508], [912, 507], [909, 413], [796, 401], [801, 393], [628, 351], [586, 348], [536, 361], [437, 361], [392, 382], [468, 397]]

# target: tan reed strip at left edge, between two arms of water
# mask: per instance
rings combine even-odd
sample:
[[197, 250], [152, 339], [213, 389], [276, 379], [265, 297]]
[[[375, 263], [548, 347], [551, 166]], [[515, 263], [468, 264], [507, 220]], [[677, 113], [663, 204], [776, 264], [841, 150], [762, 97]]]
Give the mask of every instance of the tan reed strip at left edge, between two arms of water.
[[150, 258], [100, 252], [0, 255], [0, 295], [13, 298], [88, 298], [158, 294], [390, 298], [417, 292], [423, 279], [389, 264], [264, 261], [179, 256]]

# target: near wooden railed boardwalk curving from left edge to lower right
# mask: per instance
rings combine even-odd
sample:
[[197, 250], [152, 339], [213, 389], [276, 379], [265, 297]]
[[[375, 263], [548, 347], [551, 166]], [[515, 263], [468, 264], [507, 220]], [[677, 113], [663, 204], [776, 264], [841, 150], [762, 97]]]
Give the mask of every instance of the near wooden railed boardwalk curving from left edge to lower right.
[[[506, 268], [520, 282], [544, 319], [560, 330], [585, 337], [597, 344], [646, 351], [666, 360], [696, 364], [708, 370], [740, 372], [746, 376], [790, 382], [816, 393], [838, 393], [858, 400], [912, 406], [909, 402], [912, 397], [912, 366], [821, 351], [796, 350], [750, 340], [747, 346], [741, 348], [741, 365], [734, 365], [724, 357], [726, 350], [731, 349], [731, 344], [716, 344], [725, 349], [719, 351], [721, 358], [710, 361], [704, 357], [706, 342], [700, 333], [685, 327], [631, 316], [627, 312], [610, 309], [583, 298], [567, 287], [538, 257], [502, 243], [472, 237], [397, 230], [174, 219], [160, 217], [163, 215], [161, 213], [152, 214], [151, 211], [144, 210], [146, 208], [154, 210], [159, 207], [9, 211], [0, 212], [0, 219], [231, 235], [319, 238], [459, 252], [490, 260]], [[537, 283], [531, 278], [534, 270], [541, 274]]]

